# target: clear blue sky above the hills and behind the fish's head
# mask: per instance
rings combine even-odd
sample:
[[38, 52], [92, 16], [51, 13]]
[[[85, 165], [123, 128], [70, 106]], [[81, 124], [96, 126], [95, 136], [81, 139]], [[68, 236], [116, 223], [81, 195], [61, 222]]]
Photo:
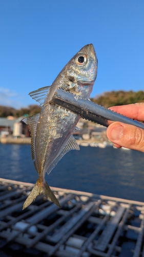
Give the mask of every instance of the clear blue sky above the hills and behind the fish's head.
[[84, 45], [92, 43], [98, 74], [91, 97], [144, 90], [143, 0], [1, 0], [0, 105], [36, 102]]

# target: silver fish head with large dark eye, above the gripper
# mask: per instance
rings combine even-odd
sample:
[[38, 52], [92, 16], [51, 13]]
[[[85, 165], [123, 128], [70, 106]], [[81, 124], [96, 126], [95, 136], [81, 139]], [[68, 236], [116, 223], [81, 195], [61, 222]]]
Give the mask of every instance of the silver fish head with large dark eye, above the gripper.
[[57, 88], [62, 88], [79, 98], [88, 99], [97, 75], [97, 58], [92, 44], [81, 48], [61, 70], [47, 98], [50, 101]]

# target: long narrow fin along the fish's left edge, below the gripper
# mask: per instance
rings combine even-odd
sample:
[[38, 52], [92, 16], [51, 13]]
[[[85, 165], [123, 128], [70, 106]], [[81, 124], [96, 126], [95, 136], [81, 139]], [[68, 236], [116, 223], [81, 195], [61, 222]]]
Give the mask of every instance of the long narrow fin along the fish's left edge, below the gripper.
[[37, 165], [36, 152], [35, 152], [35, 138], [36, 138], [38, 119], [39, 119], [39, 113], [34, 114], [23, 120], [26, 124], [29, 125], [29, 130], [31, 135], [31, 155], [32, 155], [32, 160], [34, 160], [34, 166], [37, 172], [38, 172], [38, 165]]

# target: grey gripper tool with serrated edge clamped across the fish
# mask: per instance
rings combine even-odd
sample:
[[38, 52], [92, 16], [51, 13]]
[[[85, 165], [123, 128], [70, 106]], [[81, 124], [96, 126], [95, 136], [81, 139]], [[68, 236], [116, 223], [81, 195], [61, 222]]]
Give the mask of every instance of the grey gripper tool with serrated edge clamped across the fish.
[[95, 104], [90, 100], [80, 99], [77, 95], [69, 93], [63, 89], [57, 89], [55, 91], [51, 103], [60, 105], [69, 109], [69, 111], [78, 114], [84, 119], [94, 121], [106, 127], [109, 126], [109, 121], [120, 121], [144, 129], [144, 124], [137, 120], [133, 120], [124, 115], [113, 112], [110, 109]]

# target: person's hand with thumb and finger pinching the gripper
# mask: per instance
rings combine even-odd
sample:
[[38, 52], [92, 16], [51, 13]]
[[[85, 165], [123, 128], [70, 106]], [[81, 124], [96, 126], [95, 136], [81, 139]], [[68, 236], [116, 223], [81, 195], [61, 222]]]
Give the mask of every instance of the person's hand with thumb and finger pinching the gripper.
[[[110, 109], [131, 119], [144, 121], [144, 103], [112, 106]], [[142, 128], [118, 121], [113, 122], [107, 128], [107, 137], [117, 148], [124, 146], [144, 152], [144, 129]]]

